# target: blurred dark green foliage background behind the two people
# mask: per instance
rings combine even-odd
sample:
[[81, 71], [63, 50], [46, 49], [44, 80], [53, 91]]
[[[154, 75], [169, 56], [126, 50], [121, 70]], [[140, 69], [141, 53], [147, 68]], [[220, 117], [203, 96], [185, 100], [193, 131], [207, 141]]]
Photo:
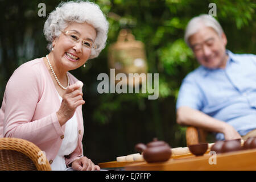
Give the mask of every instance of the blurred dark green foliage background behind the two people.
[[[39, 3], [46, 16], [39, 16]], [[0, 0], [0, 102], [5, 86], [21, 64], [48, 53], [43, 35], [47, 15], [61, 1]], [[94, 163], [134, 154], [135, 144], [154, 137], [171, 147], [185, 147], [185, 127], [176, 123], [175, 104], [181, 81], [199, 64], [186, 46], [184, 29], [193, 16], [208, 14], [209, 3], [217, 7], [216, 19], [235, 53], [256, 54], [255, 0], [98, 0], [110, 23], [106, 48], [86, 68], [71, 73], [84, 82], [84, 155]], [[147, 94], [100, 94], [100, 73], [110, 72], [110, 46], [119, 31], [130, 30], [143, 43], [148, 73], [159, 73], [159, 97]], [[135, 52], [136, 53], [136, 52]], [[238, 73], [239, 74], [239, 73]], [[49, 106], [51, 107], [51, 106]]]

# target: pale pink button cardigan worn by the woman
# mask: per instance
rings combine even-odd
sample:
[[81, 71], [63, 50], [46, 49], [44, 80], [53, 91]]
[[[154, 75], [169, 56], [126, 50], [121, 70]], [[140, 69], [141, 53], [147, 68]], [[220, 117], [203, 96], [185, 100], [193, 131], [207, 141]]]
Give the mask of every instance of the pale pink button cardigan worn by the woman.
[[[71, 73], [69, 81], [77, 80]], [[16, 69], [7, 82], [0, 109], [0, 138], [14, 137], [29, 140], [46, 152], [46, 158], [55, 159], [65, 131], [57, 119], [60, 100], [43, 58], [28, 61]], [[82, 106], [77, 107], [79, 130], [77, 148], [66, 158], [66, 164], [83, 156], [84, 125]]]

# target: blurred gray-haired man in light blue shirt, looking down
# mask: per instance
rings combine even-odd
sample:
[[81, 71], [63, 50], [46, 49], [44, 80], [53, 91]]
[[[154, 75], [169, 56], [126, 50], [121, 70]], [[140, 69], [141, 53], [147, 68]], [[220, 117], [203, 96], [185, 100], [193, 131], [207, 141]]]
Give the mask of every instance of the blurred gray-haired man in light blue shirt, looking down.
[[228, 51], [224, 31], [209, 15], [190, 20], [185, 42], [201, 66], [181, 84], [177, 123], [212, 131], [217, 140], [256, 136], [256, 56]]

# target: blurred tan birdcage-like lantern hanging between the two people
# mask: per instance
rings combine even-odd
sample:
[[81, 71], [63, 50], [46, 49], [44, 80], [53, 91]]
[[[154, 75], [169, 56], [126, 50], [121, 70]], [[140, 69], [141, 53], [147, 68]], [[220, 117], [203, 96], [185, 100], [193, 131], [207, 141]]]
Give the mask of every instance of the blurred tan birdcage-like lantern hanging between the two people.
[[[139, 77], [141, 73], [147, 75], [146, 53], [144, 44], [135, 40], [134, 35], [127, 30], [121, 30], [118, 35], [117, 42], [110, 45], [108, 50], [109, 67], [115, 69], [115, 75], [125, 73], [127, 80], [129, 73], [133, 73], [133, 84], [125, 79], [121, 80], [130, 86], [136, 86], [146, 81], [144, 77]], [[135, 74], [138, 73], [138, 74]], [[120, 82], [115, 80], [115, 83]]]

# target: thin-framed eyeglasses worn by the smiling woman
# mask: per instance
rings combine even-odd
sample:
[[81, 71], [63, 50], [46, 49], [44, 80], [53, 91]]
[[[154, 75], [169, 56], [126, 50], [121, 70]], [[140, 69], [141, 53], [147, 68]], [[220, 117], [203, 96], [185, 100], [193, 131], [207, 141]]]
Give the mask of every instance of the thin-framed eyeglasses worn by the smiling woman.
[[[61, 31], [61, 32], [63, 32], [63, 31]], [[63, 32], [63, 34], [65, 36], [67, 36], [67, 38], [69, 40], [71, 40], [71, 42], [73, 42], [73, 43], [80, 42], [80, 38], [75, 31], [65, 31], [65, 32]], [[97, 48], [97, 46], [90, 40], [82, 40], [82, 46], [85, 48], [89, 48], [89, 49]]]

